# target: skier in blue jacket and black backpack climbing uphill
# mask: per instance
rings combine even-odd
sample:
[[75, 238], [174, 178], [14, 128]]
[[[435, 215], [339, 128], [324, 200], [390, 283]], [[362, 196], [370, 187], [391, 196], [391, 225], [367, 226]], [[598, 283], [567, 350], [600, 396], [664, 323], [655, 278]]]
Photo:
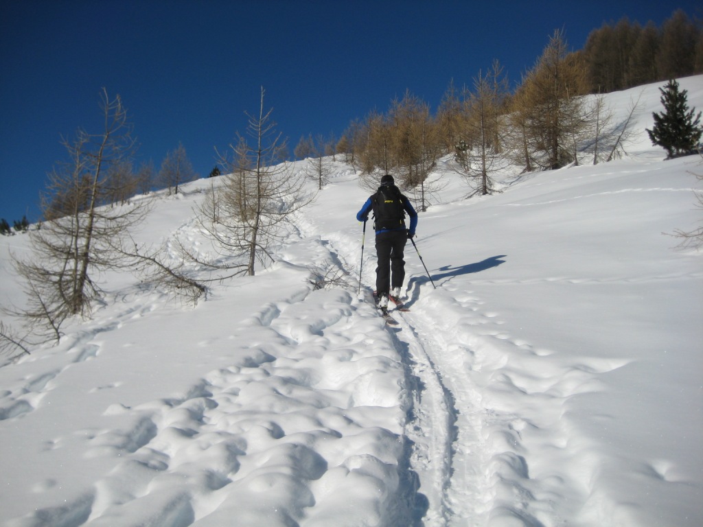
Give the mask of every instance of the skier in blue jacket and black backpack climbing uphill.
[[[393, 176], [390, 174], [381, 178], [381, 186], [375, 194], [368, 197], [356, 214], [356, 219], [368, 221], [368, 213], [372, 210], [378, 257], [376, 267], [378, 307], [386, 311], [389, 294], [396, 304], [401, 304], [400, 289], [405, 280], [403, 251], [408, 238], [413, 238], [415, 235], [418, 213], [415, 212], [408, 198], [395, 186]], [[405, 224], [406, 213], [410, 216], [409, 228]]]

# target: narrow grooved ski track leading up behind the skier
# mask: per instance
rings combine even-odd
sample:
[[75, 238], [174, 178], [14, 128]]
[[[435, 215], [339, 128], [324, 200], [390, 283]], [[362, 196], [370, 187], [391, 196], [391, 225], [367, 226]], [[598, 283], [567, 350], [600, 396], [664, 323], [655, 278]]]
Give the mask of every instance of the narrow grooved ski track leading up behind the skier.
[[[305, 223], [304, 219], [299, 222]], [[319, 230], [307, 225], [301, 232]], [[330, 250], [333, 266], [349, 269], [349, 257], [340, 256], [335, 249], [335, 242], [341, 241], [322, 243]], [[372, 302], [370, 290], [366, 290], [365, 297]], [[435, 364], [437, 357], [446, 355], [446, 349], [432, 336], [431, 329], [418, 327], [411, 313], [393, 311], [392, 315], [399, 325], [386, 327], [403, 361], [412, 401], [404, 436], [410, 447], [408, 477], [417, 478], [419, 484], [418, 493], [410, 498], [414, 504], [413, 525], [465, 525], [456, 522], [475, 517], [480, 509], [475, 498], [479, 493], [474, 459], [477, 408], [471, 402], [468, 379], [459, 368], [457, 376], [448, 381], [446, 367], [441, 369]]]

